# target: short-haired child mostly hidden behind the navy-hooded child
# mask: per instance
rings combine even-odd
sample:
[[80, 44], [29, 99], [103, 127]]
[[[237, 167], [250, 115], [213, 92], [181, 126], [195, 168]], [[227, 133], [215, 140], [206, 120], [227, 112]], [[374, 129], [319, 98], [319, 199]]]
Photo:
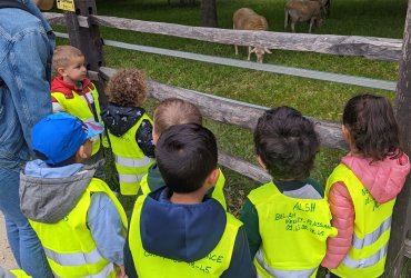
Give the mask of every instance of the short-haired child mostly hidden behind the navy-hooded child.
[[[152, 139], [156, 143], [161, 133], [168, 128], [174, 125], [183, 123], [197, 123], [202, 125], [202, 116], [200, 110], [192, 103], [178, 99], [169, 98], [160, 102], [160, 105], [154, 110], [154, 129], [152, 132]], [[207, 193], [209, 197], [218, 200], [224, 209], [227, 209], [227, 202], [224, 198], [224, 183], [225, 178], [221, 170], [219, 170], [219, 178], [217, 183]], [[148, 175], [146, 175], [141, 180], [141, 188], [139, 190], [139, 196], [141, 193], [149, 193], [156, 191], [160, 187], [163, 187], [164, 180], [161, 177], [158, 166], [154, 163], [150, 167]]]

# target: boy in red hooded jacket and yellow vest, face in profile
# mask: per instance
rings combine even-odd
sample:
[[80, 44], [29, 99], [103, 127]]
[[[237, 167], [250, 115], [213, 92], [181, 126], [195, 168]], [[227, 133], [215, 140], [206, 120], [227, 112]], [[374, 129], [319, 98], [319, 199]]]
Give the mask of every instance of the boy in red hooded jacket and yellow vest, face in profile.
[[[102, 122], [100, 119], [99, 93], [90, 81], [86, 78], [83, 53], [71, 46], [57, 47], [53, 54], [53, 69], [58, 77], [51, 81], [51, 101], [53, 112], [68, 112], [78, 117], [82, 121]], [[100, 136], [102, 138], [102, 136]], [[107, 139], [102, 142], [100, 138], [92, 145], [92, 156], [86, 163], [98, 163], [96, 177], [106, 179], [102, 168], [104, 163], [101, 143], [108, 147]]]

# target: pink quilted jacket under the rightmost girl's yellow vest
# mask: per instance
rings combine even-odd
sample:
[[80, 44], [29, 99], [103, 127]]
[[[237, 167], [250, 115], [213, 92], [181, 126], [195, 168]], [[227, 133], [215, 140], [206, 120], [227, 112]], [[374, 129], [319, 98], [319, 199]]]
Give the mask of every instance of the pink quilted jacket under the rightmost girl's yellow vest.
[[[370, 165], [369, 159], [354, 157], [350, 152], [341, 159], [341, 162], [353, 171], [380, 203], [397, 197], [411, 167], [405, 155], [398, 159], [387, 158]], [[340, 265], [351, 248], [355, 211], [351, 196], [343, 182], [335, 182], [328, 198], [332, 214], [331, 224], [338, 229], [338, 236], [328, 239], [327, 255], [321, 266], [333, 269]]]

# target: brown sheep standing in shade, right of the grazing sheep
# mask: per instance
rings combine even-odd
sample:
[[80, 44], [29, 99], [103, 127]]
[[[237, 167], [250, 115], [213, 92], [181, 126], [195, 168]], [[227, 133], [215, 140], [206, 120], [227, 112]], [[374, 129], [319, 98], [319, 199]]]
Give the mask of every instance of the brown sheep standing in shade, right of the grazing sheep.
[[295, 32], [295, 23], [298, 21], [310, 21], [309, 32], [311, 32], [312, 24], [315, 22], [317, 27], [321, 27], [321, 3], [318, 1], [309, 0], [290, 0], [287, 2], [285, 8], [284, 30], [291, 17], [291, 29]]

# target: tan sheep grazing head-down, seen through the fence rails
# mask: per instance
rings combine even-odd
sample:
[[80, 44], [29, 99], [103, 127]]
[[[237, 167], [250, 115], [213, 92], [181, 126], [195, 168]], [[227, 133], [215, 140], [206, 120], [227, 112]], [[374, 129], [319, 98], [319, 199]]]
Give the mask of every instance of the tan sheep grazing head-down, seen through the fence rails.
[[[232, 18], [234, 30], [255, 30], [267, 31], [268, 23], [267, 19], [249, 8], [241, 8], [237, 10]], [[234, 44], [235, 54], [239, 53], [237, 44]], [[271, 53], [267, 47], [248, 47], [248, 60], [250, 61], [251, 53], [255, 53], [257, 61], [262, 62], [264, 53]]]

